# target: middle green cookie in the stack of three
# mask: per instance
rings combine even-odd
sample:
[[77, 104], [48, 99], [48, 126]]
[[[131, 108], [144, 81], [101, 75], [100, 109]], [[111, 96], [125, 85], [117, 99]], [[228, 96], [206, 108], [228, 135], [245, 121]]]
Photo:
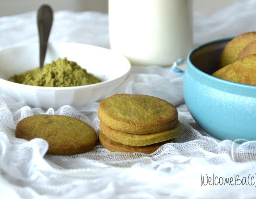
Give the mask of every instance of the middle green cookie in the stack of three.
[[170, 140], [174, 137], [177, 137], [180, 135], [180, 127], [181, 125], [180, 122], [178, 121], [178, 124], [170, 130], [149, 134], [133, 134], [119, 130], [114, 130], [106, 126], [105, 124], [100, 123], [101, 132], [104, 133], [108, 138], [115, 142], [119, 142], [121, 144], [134, 147], [164, 142], [166, 140]]

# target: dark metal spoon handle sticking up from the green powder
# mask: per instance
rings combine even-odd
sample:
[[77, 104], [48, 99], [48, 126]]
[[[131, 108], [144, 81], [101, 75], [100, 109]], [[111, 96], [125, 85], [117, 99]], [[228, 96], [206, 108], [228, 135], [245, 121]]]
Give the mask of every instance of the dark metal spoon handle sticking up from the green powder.
[[51, 7], [46, 4], [42, 5], [37, 12], [37, 25], [40, 42], [40, 69], [43, 67], [45, 61], [48, 38], [52, 27], [52, 20], [53, 14]]

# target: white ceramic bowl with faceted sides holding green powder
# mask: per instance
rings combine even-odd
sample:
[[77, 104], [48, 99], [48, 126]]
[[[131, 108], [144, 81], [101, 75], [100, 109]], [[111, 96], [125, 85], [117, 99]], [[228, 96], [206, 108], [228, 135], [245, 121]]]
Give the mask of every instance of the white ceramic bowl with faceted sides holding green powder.
[[76, 87], [38, 87], [8, 81], [39, 65], [39, 45], [29, 44], [0, 51], [0, 92], [29, 106], [57, 109], [99, 101], [117, 88], [128, 75], [131, 64], [122, 55], [98, 46], [57, 42], [49, 43], [45, 63], [58, 57], [75, 61], [89, 73], [103, 80], [97, 84]]

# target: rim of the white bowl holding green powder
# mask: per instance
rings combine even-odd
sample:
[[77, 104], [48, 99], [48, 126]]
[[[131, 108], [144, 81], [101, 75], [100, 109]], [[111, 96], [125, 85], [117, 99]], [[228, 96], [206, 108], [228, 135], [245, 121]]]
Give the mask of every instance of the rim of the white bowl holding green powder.
[[[10, 48], [4, 48], [2, 50], [0, 50], [0, 53], [3, 52], [3, 51], [8, 51], [8, 50], [11, 50], [11, 49], [17, 49], [17, 48], [23, 48], [23, 47], [26, 47], [26, 46], [29, 46], [29, 45], [36, 45], [38, 44], [37, 42], [32, 42], [32, 43], [29, 43], [29, 44], [21, 44], [21, 45], [15, 45], [15, 46], [11, 46]], [[106, 81], [102, 81], [102, 82], [99, 82], [99, 83], [95, 83], [95, 84], [89, 84], [89, 85], [83, 85], [83, 86], [70, 86], [70, 87], [44, 87], [44, 86], [32, 86], [32, 85], [26, 85], [26, 84], [20, 84], [20, 83], [16, 83], [16, 82], [13, 82], [13, 81], [8, 81], [8, 80], [5, 80], [5, 79], [2, 79], [0, 78], [0, 82], [3, 82], [4, 84], [10, 84], [10, 85], [13, 85], [13, 87], [20, 87], [20, 88], [24, 88], [24, 89], [29, 89], [29, 90], [44, 90], [44, 91], [62, 91], [62, 90], [73, 90], [73, 89], [77, 89], [77, 90], [80, 90], [80, 89], [85, 89], [85, 88], [96, 88], [96, 87], [101, 87], [101, 86], [107, 86], [107, 85], [110, 85], [112, 84], [113, 82], [115, 81], [118, 81], [119, 79], [123, 78], [124, 76], [128, 75], [131, 71], [131, 63], [129, 62], [129, 60], [123, 56], [122, 54], [120, 53], [117, 53], [115, 51], [112, 51], [111, 49], [108, 49], [108, 48], [104, 48], [104, 47], [101, 47], [101, 46], [96, 46], [96, 45], [90, 45], [90, 44], [83, 44], [83, 43], [76, 43], [76, 42], [59, 42], [59, 41], [56, 41], [56, 42], [48, 42], [48, 45], [58, 45], [58, 44], [68, 44], [68, 45], [86, 45], [86, 46], [89, 46], [89, 47], [93, 47], [93, 48], [98, 48], [98, 49], [102, 49], [102, 50], [107, 50], [113, 54], [116, 54], [120, 57], [123, 57], [123, 59], [125, 60], [125, 62], [127, 62], [127, 65], [129, 66], [128, 70], [121, 76], [115, 78], [115, 79], [111, 79], [111, 80], [106, 80]]]

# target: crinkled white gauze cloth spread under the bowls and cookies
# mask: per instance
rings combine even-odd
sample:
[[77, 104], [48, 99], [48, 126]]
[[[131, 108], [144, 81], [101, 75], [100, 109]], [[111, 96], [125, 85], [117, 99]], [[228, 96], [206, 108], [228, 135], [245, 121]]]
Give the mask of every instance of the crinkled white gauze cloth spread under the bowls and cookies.
[[[207, 18], [194, 13], [194, 43], [256, 30], [255, 16], [255, 1], [234, 3]], [[59, 11], [50, 41], [109, 48], [107, 23], [106, 14]], [[37, 41], [36, 12], [0, 18], [0, 50]], [[175, 103], [182, 98], [182, 77], [168, 68], [134, 66], [109, 95], [114, 93], [149, 94]], [[255, 198], [256, 142], [216, 140], [194, 122], [186, 105], [178, 107], [182, 130], [177, 142], [150, 155], [113, 153], [100, 145], [85, 154], [45, 155], [46, 141], [14, 136], [18, 121], [39, 113], [79, 117], [97, 131], [97, 107], [94, 102], [42, 110], [0, 93], [0, 198]], [[204, 185], [207, 176], [215, 184]]]

